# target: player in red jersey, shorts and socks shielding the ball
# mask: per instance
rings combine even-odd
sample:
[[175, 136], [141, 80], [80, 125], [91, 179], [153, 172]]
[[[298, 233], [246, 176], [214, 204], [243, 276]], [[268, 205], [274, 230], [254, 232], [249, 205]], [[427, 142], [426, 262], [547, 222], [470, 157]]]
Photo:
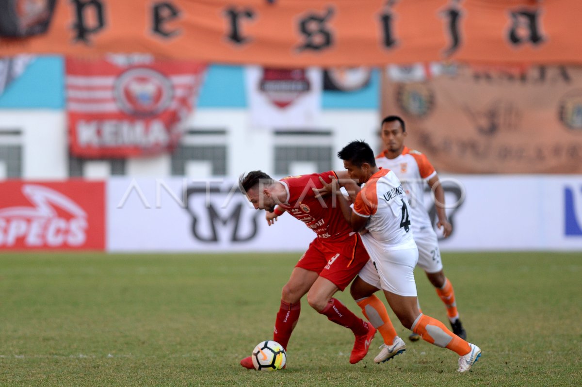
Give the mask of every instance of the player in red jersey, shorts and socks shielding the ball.
[[[356, 342], [350, 363], [355, 364], [368, 353], [376, 329], [333, 298], [333, 294], [352, 282], [369, 257], [360, 235], [352, 232], [335, 200], [332, 197], [315, 198], [313, 188], [322, 187], [320, 177], [330, 182], [330, 175], [338, 177], [340, 182], [353, 184], [353, 187], [346, 187], [349, 192], [358, 190], [353, 181], [346, 179], [346, 172], [338, 176], [333, 171], [289, 176], [281, 180], [274, 180], [261, 171], [253, 171], [240, 177], [239, 187], [255, 209], [267, 211], [269, 225], [277, 216], [289, 212], [317, 234], [283, 286], [273, 340], [287, 349], [291, 333], [299, 320], [301, 297], [307, 294], [307, 302], [318, 313], [352, 330]], [[254, 368], [251, 357], [243, 358], [240, 364], [245, 368]]]

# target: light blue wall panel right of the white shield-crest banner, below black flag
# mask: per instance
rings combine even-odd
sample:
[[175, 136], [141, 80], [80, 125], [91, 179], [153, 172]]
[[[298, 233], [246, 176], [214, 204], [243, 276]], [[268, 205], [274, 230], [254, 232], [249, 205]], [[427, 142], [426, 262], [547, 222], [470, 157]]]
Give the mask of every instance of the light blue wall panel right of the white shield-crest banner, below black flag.
[[349, 93], [343, 91], [324, 91], [324, 109], [378, 109], [380, 100], [380, 73], [372, 70], [368, 86]]

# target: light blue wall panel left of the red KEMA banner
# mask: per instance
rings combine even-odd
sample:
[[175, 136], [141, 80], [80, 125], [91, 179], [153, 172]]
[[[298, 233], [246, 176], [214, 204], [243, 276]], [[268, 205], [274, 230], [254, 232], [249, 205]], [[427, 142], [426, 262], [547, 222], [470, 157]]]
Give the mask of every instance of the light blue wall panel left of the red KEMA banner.
[[59, 56], [38, 56], [0, 96], [0, 108], [62, 109], [65, 64]]

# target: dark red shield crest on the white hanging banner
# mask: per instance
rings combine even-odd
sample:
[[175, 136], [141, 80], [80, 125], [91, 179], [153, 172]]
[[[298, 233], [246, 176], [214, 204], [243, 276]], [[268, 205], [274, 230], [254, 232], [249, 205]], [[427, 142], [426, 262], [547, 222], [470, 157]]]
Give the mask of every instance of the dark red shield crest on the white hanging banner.
[[304, 69], [263, 69], [260, 90], [283, 109], [311, 89]]

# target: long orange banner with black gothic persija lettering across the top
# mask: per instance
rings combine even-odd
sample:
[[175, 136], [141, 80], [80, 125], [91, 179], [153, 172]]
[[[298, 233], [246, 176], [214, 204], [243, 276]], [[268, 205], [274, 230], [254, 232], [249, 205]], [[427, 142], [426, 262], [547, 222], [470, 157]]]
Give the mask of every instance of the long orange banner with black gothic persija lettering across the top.
[[582, 63], [580, 0], [16, 0], [0, 55], [151, 52], [265, 66]]

